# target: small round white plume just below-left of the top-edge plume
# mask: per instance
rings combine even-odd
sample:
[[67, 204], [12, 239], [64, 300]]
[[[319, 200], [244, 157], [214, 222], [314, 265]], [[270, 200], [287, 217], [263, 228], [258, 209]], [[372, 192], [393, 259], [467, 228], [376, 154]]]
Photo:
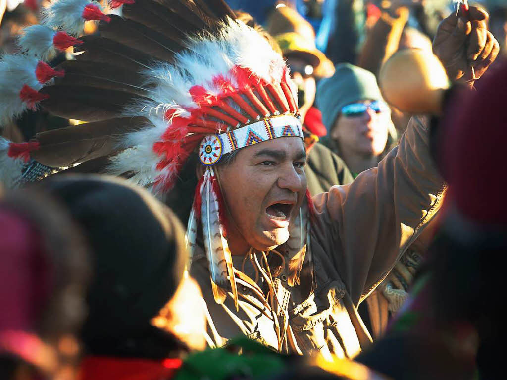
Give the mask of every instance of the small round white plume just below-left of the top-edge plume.
[[56, 30], [45, 25], [31, 25], [23, 29], [18, 45], [23, 52], [40, 60], [48, 61], [55, 56], [53, 38]]

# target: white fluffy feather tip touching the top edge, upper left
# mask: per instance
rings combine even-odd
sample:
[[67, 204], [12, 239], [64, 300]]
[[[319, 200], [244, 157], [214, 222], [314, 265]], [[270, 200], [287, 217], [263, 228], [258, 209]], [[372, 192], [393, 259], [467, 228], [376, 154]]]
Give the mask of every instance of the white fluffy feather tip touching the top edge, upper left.
[[79, 36], [83, 33], [85, 24], [83, 10], [88, 4], [102, 10], [97, 2], [90, 0], [56, 0], [49, 7], [42, 9], [42, 24]]

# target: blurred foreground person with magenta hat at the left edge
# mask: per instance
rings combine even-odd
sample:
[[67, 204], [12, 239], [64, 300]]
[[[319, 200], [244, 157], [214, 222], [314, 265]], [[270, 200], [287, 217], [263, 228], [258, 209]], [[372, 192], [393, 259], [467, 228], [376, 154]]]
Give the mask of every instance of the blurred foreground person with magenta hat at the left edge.
[[88, 259], [79, 228], [51, 198], [0, 195], [0, 378], [76, 378]]

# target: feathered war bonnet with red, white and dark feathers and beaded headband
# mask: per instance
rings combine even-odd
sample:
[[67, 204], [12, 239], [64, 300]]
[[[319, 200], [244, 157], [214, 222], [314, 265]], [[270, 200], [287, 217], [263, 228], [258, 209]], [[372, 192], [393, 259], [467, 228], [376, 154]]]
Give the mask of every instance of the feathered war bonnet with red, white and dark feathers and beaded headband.
[[[198, 154], [206, 170], [195, 192], [187, 244], [196, 246], [200, 224], [215, 300], [223, 302], [230, 290], [237, 307], [225, 203], [213, 166], [252, 144], [303, 139], [297, 90], [282, 57], [257, 31], [235, 21], [222, 0], [123, 4], [122, 17], [103, 15], [88, 0], [59, 0], [46, 10], [49, 50], [54, 37], [48, 28], [77, 37], [85, 19], [100, 20], [98, 36], [74, 41], [83, 53], [54, 69], [58, 74], [47, 86], [34, 88], [42, 108], [89, 123], [38, 133], [21, 145], [4, 142], [0, 160], [15, 162], [19, 175], [0, 168], [1, 177], [18, 183], [33, 162], [51, 169], [84, 162], [93, 170], [94, 162], [106, 160], [102, 171], [164, 193], [188, 157]], [[92, 18], [87, 9], [94, 11]], [[25, 47], [24, 56], [33, 60], [30, 52], [38, 51], [46, 57], [48, 49], [35, 45]], [[310, 259], [307, 213], [305, 202], [286, 243], [291, 286], [299, 284], [303, 262]]]

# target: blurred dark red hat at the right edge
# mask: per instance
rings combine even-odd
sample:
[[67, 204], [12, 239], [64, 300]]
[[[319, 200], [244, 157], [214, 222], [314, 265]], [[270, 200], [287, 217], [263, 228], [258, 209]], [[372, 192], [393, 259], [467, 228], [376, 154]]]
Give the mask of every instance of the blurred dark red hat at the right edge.
[[505, 88], [507, 65], [503, 64], [477, 83], [477, 91], [452, 98], [438, 152], [449, 184], [447, 200], [468, 220], [502, 228], [507, 220]]

